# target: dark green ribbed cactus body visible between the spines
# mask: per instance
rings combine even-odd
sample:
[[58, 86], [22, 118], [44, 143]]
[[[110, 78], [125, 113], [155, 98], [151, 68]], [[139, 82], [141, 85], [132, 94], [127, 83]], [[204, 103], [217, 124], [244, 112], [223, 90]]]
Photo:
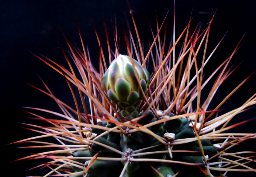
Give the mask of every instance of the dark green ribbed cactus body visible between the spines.
[[[170, 115], [171, 116], [171, 115]], [[152, 114], [152, 112], [148, 112], [148, 115], [141, 120], [138, 121], [141, 125], [146, 125], [150, 122], [155, 122], [156, 118]], [[162, 136], [168, 133], [175, 133], [175, 139], [184, 139], [184, 138], [194, 138], [194, 131], [189, 125], [189, 121], [186, 118], [174, 119], [171, 121], [167, 121], [164, 124], [156, 124], [148, 129], [152, 132], [156, 133], [159, 136]], [[114, 124], [107, 124], [107, 122], [103, 121], [100, 123], [101, 126], [106, 126], [108, 128], [113, 128]], [[93, 128], [93, 133], [100, 134], [104, 132], [100, 129]], [[117, 150], [120, 150], [125, 153], [125, 151], [130, 148], [132, 150], [143, 149], [145, 147], [150, 147], [154, 145], [160, 145], [154, 148], [150, 148], [142, 152], [155, 152], [161, 150], [167, 150], [165, 145], [161, 145], [156, 138], [153, 136], [143, 133], [140, 131], [129, 134], [128, 136], [109, 132], [107, 136], [98, 138], [97, 142], [103, 143], [104, 145], [113, 147]], [[217, 150], [211, 145], [209, 140], [201, 140], [204, 153], [208, 155], [208, 157], [212, 157], [217, 154]], [[198, 152], [172, 152], [173, 158], [170, 158], [169, 153], [153, 153], [151, 155], [145, 156], [134, 156], [133, 158], [148, 158], [148, 159], [165, 159], [165, 160], [175, 160], [180, 162], [189, 162], [189, 163], [203, 163], [201, 150], [198, 142], [190, 142], [180, 145], [175, 145], [172, 147], [172, 150], [191, 150]], [[107, 149], [103, 146], [97, 145], [93, 143], [91, 149], [89, 150], [80, 150], [74, 153], [74, 157], [93, 157], [96, 153], [99, 153], [98, 157], [112, 157], [112, 158], [121, 158], [122, 156], [110, 149]], [[77, 162], [83, 163], [88, 159], [73, 159]], [[219, 162], [218, 157], [215, 157], [210, 162]], [[90, 167], [88, 171], [88, 177], [119, 177], [122, 169], [124, 168], [126, 162], [121, 161], [110, 161], [110, 160], [96, 160], [93, 166]], [[201, 166], [188, 166], [177, 163], [163, 163], [163, 162], [148, 162], [152, 165], [156, 170], [158, 170], [163, 176], [174, 175], [178, 171], [180, 171], [179, 176], [183, 177], [205, 177], [207, 176], [201, 170], [205, 170], [204, 165]], [[146, 162], [131, 162], [128, 164], [124, 177], [141, 177], [141, 176], [152, 176], [152, 177], [160, 177]], [[82, 171], [77, 167], [73, 167], [73, 169], [78, 172]], [[219, 171], [211, 171], [214, 176], [219, 176]], [[83, 175], [80, 175], [81, 177]], [[80, 177], [77, 176], [77, 177]]]

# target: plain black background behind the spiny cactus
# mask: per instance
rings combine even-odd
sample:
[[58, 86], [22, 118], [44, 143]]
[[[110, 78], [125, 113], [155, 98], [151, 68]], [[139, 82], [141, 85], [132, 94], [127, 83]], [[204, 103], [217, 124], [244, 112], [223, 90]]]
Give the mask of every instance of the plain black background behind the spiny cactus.
[[[129, 0], [136, 24], [139, 29], [141, 39], [145, 41], [148, 37], [152, 41], [152, 35], [149, 31], [147, 17], [156, 35], [155, 27], [155, 9], [158, 13], [159, 21], [162, 22], [168, 10], [169, 18], [167, 20], [168, 36], [172, 37], [173, 28], [173, 1], [171, 0]], [[205, 67], [206, 77], [217, 68], [238, 44], [242, 35], [242, 47], [231, 60], [231, 65], [242, 64], [230, 76], [228, 80], [219, 88], [211, 108], [215, 106], [228, 95], [243, 79], [256, 69], [256, 33], [255, 33], [255, 4], [253, 0], [177, 0], [176, 1], [176, 38], [180, 32], [186, 27], [191, 10], [193, 8], [193, 21], [191, 30], [194, 30], [197, 23], [201, 21], [203, 26], [201, 30], [207, 27], [210, 14], [202, 14], [201, 12], [210, 13], [212, 9], [217, 11], [214, 22], [210, 31], [210, 39], [208, 42], [207, 54], [214, 49], [220, 39], [226, 35], [223, 43], [219, 46], [215, 54], [212, 56], [209, 64]], [[64, 32], [71, 44], [77, 45], [81, 49], [81, 42], [77, 31], [75, 16], [82, 31], [84, 43], [88, 45], [91, 59], [98, 63], [99, 46], [91, 19], [96, 25], [98, 34], [103, 38], [103, 49], [107, 49], [105, 42], [105, 31], [103, 26], [104, 16], [108, 27], [108, 34], [112, 48], [114, 47], [113, 34], [111, 29], [111, 16], [117, 19], [118, 28], [121, 29], [121, 22], [125, 22], [125, 16], [128, 17], [130, 26], [132, 20], [129, 14], [127, 2], [125, 0], [5, 0], [0, 1], [0, 109], [1, 109], [1, 132], [2, 132], [2, 153], [4, 163], [2, 172], [8, 176], [43, 176], [46, 170], [27, 169], [39, 164], [38, 161], [13, 162], [15, 160], [30, 153], [38, 153], [38, 149], [17, 149], [16, 147], [27, 146], [27, 144], [8, 145], [8, 143], [17, 140], [37, 136], [36, 132], [22, 129], [17, 122], [31, 123], [26, 119], [30, 115], [21, 111], [21, 107], [37, 107], [52, 111], [60, 111], [54, 100], [48, 98], [43, 93], [28, 86], [23, 81], [35, 85], [43, 89], [43, 85], [38, 75], [46, 82], [53, 94], [60, 100], [74, 107], [73, 98], [70, 90], [65, 83], [65, 79], [60, 77], [58, 73], [46, 66], [44, 63], [35, 58], [29, 51], [33, 53], [41, 53], [55, 62], [67, 67], [65, 58], [63, 57], [57, 41], [60, 42], [64, 50], [68, 47], [58, 28]], [[134, 30], [133, 30], [134, 32]], [[163, 36], [163, 35], [162, 35]], [[135, 33], [134, 33], [135, 37]], [[146, 44], [146, 42], [145, 42]], [[176, 49], [177, 50], [177, 49]], [[176, 53], [178, 55], [178, 52]], [[105, 54], [108, 56], [108, 53]], [[230, 66], [231, 66], [230, 65]], [[241, 106], [246, 100], [255, 93], [255, 75], [250, 78], [228, 101], [223, 107], [226, 111]], [[207, 88], [205, 88], [207, 89]], [[210, 89], [210, 87], [208, 87]], [[255, 108], [237, 115], [231, 121], [231, 124], [244, 121], [255, 117]], [[43, 115], [40, 113], [40, 115]], [[242, 125], [233, 129], [236, 132], [255, 133], [256, 121]], [[255, 150], [255, 141], [248, 141], [248, 144], [241, 145], [237, 149]], [[236, 149], [235, 149], [236, 150]], [[40, 151], [41, 152], [41, 151]], [[229, 176], [237, 176], [241, 173], [231, 172]], [[253, 176], [255, 173], [246, 172], [246, 176]]]

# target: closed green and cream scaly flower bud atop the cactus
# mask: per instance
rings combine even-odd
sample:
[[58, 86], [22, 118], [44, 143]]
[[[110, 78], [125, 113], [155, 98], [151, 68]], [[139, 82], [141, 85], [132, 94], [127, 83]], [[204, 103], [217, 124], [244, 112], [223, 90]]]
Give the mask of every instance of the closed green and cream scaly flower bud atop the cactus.
[[[148, 70], [143, 68], [135, 59], [132, 60], [136, 73], [132, 67], [131, 58], [120, 54], [113, 60], [103, 76], [105, 93], [113, 103], [118, 105], [121, 117], [127, 119], [138, 117], [138, 105], [143, 97], [139, 84], [145, 93], [150, 80]], [[139, 83], [135, 74], [139, 78]]]

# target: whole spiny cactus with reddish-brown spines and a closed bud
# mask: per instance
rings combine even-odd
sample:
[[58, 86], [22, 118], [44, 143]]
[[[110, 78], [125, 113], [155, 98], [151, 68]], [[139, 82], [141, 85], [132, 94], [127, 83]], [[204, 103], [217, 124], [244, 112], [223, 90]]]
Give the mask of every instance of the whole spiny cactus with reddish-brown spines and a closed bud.
[[[136, 29], [131, 8], [130, 13]], [[30, 112], [37, 116], [34, 119], [47, 121], [52, 126], [31, 125], [41, 129], [39, 132], [43, 135], [18, 142], [31, 142], [34, 139], [52, 136], [59, 144], [41, 142], [42, 146], [34, 147], [59, 147], [60, 149], [18, 160], [51, 159], [52, 161], [46, 165], [37, 166], [51, 167], [51, 171], [45, 176], [55, 174], [55, 176], [69, 177], [139, 177], [142, 175], [213, 177], [225, 176], [225, 171], [255, 171], [246, 164], [253, 161], [253, 158], [238, 154], [256, 152], [226, 153], [226, 150], [244, 140], [255, 138], [255, 133], [224, 133], [226, 130], [248, 122], [227, 125], [236, 114], [256, 103], [255, 95], [241, 107], [223, 115], [217, 114], [220, 111], [219, 107], [242, 85], [240, 84], [214, 110], [208, 110], [219, 86], [232, 73], [231, 68], [228, 69], [228, 64], [240, 44], [239, 42], [232, 55], [209, 78], [203, 79], [204, 66], [211, 58], [211, 55], [206, 58], [206, 48], [214, 15], [203, 32], [200, 32], [199, 28], [192, 32], [189, 29], [189, 22], [170, 46], [160, 42], [159, 34], [166, 23], [165, 18], [154, 37], [151, 48], [145, 53], [143, 53], [145, 49], [142, 47], [137, 29], [136, 38], [139, 41], [139, 49], [133, 47], [132, 42], [135, 36], [132, 36], [128, 26], [128, 30], [123, 31], [127, 55], [120, 53], [119, 41], [115, 38], [114, 52], [111, 53], [110, 48], [108, 50], [110, 61], [108, 68], [107, 59], [99, 41], [100, 72], [92, 66], [89, 53], [85, 50], [84, 53], [77, 49], [73, 50], [72, 44], [66, 40], [72, 51], [72, 59], [80, 73], [79, 77], [68, 59], [71, 72], [48, 58], [35, 55], [65, 77], [72, 92], [76, 110], [56, 98], [45, 83], [48, 92], [35, 87], [52, 97], [62, 113], [39, 108], [30, 109], [48, 112], [62, 119], [48, 119]], [[114, 31], [114, 36], [116, 32]], [[173, 51], [178, 42], [182, 43], [181, 37], [184, 38], [183, 48], [180, 55], [175, 58]], [[81, 41], [83, 42], [82, 37]], [[110, 47], [109, 42], [108, 46]], [[199, 50], [204, 51], [200, 65], [197, 62]], [[67, 58], [64, 51], [63, 53]], [[154, 55], [155, 58], [152, 57]], [[148, 64], [152, 65], [151, 72], [145, 69]], [[194, 76], [190, 73], [192, 68], [196, 69]], [[219, 70], [221, 71], [208, 97], [202, 101], [201, 90]], [[71, 84], [78, 90], [83, 110], [79, 109]], [[86, 108], [84, 95], [89, 99], [90, 109]], [[216, 130], [216, 128], [219, 129]], [[238, 159], [230, 160], [229, 157], [232, 156]], [[241, 163], [240, 160], [247, 160], [247, 162]]]

